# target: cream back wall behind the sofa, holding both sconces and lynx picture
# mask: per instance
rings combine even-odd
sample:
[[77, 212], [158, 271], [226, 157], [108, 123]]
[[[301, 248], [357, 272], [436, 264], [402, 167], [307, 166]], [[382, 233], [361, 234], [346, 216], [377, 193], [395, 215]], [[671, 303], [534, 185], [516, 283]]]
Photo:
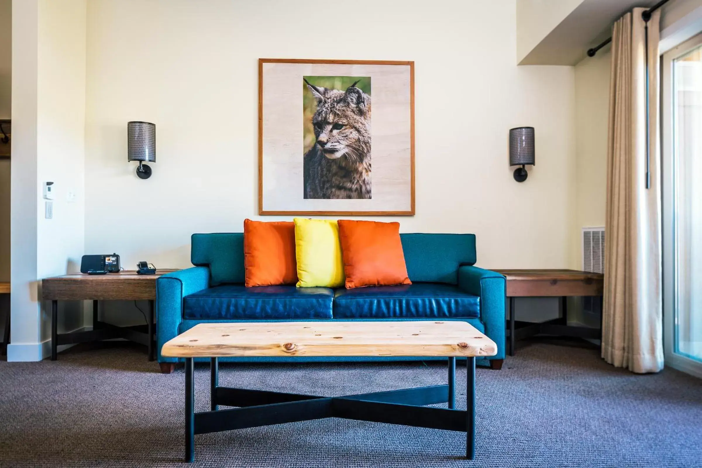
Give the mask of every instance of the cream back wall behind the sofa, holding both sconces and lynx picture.
[[[402, 231], [475, 232], [485, 267], [571, 265], [574, 70], [515, 66], [515, 2], [352, 8], [364, 32], [344, 41], [312, 40], [319, 18], [294, 2], [88, 2], [86, 253], [187, 267], [190, 234], [259, 218], [258, 58], [390, 59], [416, 62], [417, 214], [395, 218]], [[157, 125], [149, 180], [126, 161], [129, 120]], [[519, 184], [507, 140], [524, 125], [538, 154]]]

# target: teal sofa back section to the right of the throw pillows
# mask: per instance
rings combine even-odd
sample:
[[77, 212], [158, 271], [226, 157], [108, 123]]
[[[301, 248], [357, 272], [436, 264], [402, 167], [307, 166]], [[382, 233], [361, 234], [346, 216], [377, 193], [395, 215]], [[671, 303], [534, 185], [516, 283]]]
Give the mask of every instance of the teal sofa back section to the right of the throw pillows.
[[475, 265], [475, 234], [400, 234], [413, 283], [458, 284], [458, 267]]

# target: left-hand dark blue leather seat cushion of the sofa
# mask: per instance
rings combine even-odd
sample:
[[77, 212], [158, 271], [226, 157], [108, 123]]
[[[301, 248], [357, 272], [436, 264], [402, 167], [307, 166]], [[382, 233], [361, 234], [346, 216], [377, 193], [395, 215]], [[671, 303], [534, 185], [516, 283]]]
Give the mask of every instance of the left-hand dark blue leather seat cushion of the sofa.
[[331, 319], [333, 290], [225, 284], [183, 297], [185, 319]]

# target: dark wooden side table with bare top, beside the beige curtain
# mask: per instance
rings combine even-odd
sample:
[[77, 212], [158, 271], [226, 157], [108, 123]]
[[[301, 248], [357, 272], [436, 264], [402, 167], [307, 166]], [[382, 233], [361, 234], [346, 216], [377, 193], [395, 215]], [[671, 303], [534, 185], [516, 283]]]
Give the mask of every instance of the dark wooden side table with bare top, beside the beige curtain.
[[[602, 338], [600, 328], [569, 326], [567, 298], [569, 296], [597, 296], [602, 311], [604, 275], [579, 272], [573, 269], [504, 269], [495, 270], [507, 279], [507, 297], [510, 300], [510, 320], [507, 335], [510, 338], [510, 356], [515, 355], [515, 340], [539, 334], [566, 337]], [[515, 297], [561, 297], [562, 316], [542, 323], [515, 320]]]

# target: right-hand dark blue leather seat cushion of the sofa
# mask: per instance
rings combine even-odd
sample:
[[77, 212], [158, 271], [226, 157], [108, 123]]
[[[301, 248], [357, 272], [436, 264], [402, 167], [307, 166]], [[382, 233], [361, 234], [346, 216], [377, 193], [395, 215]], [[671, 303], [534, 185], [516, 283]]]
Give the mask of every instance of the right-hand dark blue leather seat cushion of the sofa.
[[470, 319], [480, 298], [451, 284], [414, 283], [334, 291], [335, 319]]

